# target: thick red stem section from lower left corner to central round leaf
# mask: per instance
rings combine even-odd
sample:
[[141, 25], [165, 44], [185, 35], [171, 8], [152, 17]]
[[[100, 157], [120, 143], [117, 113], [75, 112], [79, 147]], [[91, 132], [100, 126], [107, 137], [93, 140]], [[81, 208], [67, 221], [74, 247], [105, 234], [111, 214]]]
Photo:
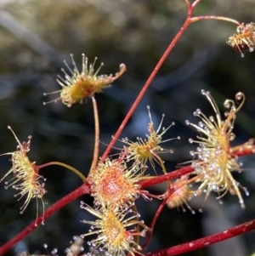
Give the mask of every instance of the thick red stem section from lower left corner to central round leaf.
[[64, 207], [67, 203], [72, 202], [73, 200], [77, 199], [77, 197], [82, 196], [84, 194], [89, 193], [89, 186], [82, 184], [80, 187], [78, 187], [75, 191], [72, 191], [67, 196], [64, 196], [61, 198], [58, 202], [55, 202], [51, 207], [47, 209], [47, 211], [43, 213], [38, 217], [37, 222], [34, 220], [31, 222], [30, 225], [26, 226], [24, 230], [22, 230], [19, 234], [14, 236], [12, 239], [10, 239], [8, 242], [3, 244], [2, 247], [0, 247], [0, 255], [3, 255], [6, 253], [11, 247], [13, 247], [17, 242], [20, 242], [20, 240], [24, 239], [27, 235], [31, 233], [32, 230], [35, 230], [38, 225], [43, 222], [43, 219], [48, 219], [48, 217], [58, 211], [60, 208]]

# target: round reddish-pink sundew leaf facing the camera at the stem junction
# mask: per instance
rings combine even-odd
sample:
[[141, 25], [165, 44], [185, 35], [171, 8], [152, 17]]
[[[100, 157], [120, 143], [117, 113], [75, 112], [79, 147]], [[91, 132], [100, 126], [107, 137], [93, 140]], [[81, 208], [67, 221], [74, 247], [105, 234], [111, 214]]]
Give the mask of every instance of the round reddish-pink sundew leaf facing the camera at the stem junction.
[[135, 161], [128, 168], [127, 160], [122, 155], [118, 159], [106, 158], [105, 162], [99, 162], [94, 173], [89, 175], [95, 206], [126, 208], [142, 193], [139, 181], [143, 177], [143, 166]]

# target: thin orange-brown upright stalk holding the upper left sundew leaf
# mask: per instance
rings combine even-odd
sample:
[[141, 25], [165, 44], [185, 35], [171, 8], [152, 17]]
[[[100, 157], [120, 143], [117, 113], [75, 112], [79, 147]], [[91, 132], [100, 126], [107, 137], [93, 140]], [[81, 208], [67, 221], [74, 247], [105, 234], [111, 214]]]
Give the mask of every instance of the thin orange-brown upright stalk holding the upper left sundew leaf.
[[94, 109], [94, 155], [93, 155], [93, 161], [88, 174], [94, 171], [99, 159], [99, 111], [98, 111], [97, 102], [94, 96], [91, 97], [91, 99], [92, 99], [93, 109]]

